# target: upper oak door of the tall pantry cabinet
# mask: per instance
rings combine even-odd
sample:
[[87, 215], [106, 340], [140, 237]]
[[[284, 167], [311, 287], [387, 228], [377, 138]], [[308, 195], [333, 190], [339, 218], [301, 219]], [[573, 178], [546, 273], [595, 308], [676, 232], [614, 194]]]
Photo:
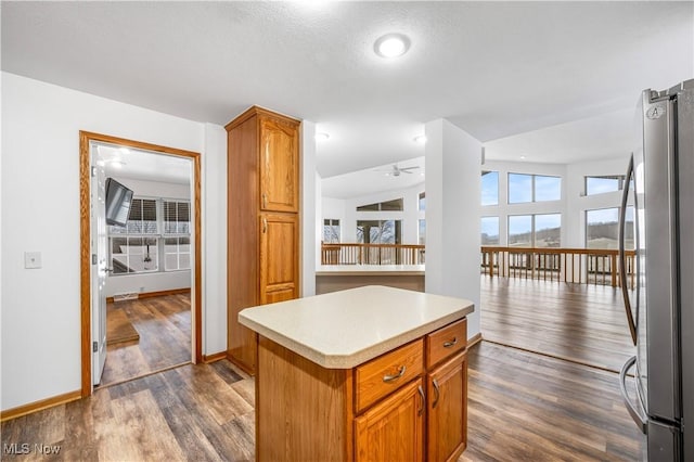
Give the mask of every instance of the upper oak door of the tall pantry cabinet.
[[260, 118], [260, 209], [298, 211], [298, 125]]

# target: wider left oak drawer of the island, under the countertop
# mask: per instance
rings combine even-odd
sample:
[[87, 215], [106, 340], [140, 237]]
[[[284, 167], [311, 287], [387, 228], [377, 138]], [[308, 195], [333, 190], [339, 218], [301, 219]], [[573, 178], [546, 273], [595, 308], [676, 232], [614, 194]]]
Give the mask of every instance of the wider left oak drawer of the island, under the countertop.
[[357, 413], [424, 371], [422, 339], [409, 343], [356, 369]]

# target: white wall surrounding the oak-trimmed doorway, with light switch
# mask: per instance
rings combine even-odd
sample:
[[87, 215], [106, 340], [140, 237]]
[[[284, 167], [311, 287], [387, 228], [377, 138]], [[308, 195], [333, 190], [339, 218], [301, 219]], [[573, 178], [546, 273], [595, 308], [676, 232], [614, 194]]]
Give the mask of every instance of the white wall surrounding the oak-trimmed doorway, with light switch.
[[[201, 152], [205, 177], [226, 172], [226, 150], [224, 143], [206, 143], [217, 138], [208, 133], [218, 131], [215, 126], [7, 73], [2, 115], [1, 408], [7, 410], [80, 389], [79, 130]], [[204, 214], [218, 213], [223, 195], [205, 189]], [[226, 227], [210, 232], [203, 223], [208, 254], [219, 248], [220, 234]], [[41, 252], [41, 269], [24, 269], [27, 251]], [[226, 319], [226, 304], [208, 304], [203, 312], [206, 321], [218, 322]], [[203, 344], [218, 346], [226, 332], [217, 329], [219, 337], [210, 342], [207, 326]], [[210, 352], [223, 349], [221, 343]]]

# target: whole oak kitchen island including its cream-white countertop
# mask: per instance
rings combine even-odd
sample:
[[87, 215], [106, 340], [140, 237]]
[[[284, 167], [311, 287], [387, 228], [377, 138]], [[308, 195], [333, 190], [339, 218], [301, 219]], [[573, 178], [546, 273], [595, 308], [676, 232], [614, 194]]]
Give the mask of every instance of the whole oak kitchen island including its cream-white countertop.
[[468, 300], [364, 286], [247, 308], [256, 460], [454, 460], [466, 444]]

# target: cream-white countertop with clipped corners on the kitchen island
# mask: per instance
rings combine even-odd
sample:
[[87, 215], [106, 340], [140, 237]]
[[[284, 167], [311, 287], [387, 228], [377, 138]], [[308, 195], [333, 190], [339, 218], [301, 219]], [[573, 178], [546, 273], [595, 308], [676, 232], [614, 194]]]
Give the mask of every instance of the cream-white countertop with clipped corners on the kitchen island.
[[474, 310], [462, 298], [369, 285], [280, 301], [239, 322], [327, 369], [351, 369]]

